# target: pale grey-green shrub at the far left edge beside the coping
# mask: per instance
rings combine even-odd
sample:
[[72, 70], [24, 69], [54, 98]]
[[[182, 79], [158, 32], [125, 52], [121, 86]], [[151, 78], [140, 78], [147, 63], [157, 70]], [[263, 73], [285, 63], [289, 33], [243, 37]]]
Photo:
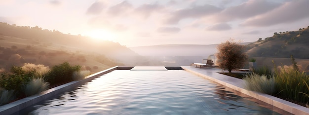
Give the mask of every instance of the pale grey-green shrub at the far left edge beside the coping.
[[0, 87], [0, 106], [15, 99], [14, 90], [5, 90]]

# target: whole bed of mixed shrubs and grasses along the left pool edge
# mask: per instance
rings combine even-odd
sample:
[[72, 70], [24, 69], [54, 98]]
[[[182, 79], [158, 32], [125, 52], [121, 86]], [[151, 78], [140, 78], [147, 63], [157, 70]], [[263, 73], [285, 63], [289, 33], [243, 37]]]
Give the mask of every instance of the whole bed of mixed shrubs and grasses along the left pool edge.
[[88, 75], [90, 71], [80, 71], [79, 65], [71, 66], [68, 62], [51, 69], [34, 64], [13, 66], [10, 72], [0, 75], [0, 106]]

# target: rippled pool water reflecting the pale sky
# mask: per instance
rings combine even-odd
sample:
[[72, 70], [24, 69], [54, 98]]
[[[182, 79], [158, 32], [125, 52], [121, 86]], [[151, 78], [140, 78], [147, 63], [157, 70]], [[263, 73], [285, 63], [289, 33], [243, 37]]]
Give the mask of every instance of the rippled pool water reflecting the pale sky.
[[184, 70], [116, 70], [28, 115], [279, 115], [238, 95]]

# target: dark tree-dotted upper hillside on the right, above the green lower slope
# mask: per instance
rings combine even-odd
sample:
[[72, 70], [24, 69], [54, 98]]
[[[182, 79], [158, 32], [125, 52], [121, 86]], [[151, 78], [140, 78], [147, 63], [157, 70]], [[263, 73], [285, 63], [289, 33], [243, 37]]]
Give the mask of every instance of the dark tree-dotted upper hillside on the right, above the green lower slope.
[[259, 38], [247, 45], [251, 57], [309, 59], [309, 27], [298, 31], [274, 33], [272, 37]]

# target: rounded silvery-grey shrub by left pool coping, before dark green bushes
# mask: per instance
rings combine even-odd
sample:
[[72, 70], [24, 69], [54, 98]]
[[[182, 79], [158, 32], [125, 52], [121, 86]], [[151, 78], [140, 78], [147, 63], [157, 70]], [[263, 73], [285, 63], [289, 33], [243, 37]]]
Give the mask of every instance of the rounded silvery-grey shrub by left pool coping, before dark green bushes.
[[49, 83], [45, 82], [43, 78], [33, 78], [30, 82], [23, 86], [23, 92], [26, 96], [31, 96], [47, 90], [48, 87]]

